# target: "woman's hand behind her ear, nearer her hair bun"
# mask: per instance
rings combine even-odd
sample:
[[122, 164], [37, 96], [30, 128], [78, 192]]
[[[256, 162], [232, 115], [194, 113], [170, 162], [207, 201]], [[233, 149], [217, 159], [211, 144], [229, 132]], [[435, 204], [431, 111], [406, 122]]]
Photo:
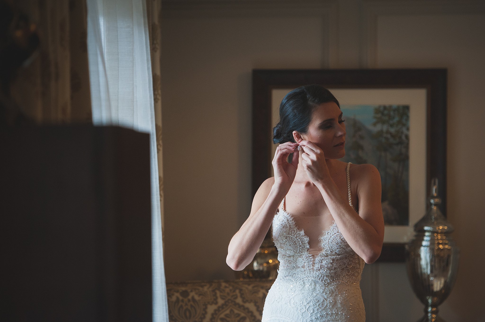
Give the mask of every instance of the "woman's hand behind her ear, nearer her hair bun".
[[[275, 173], [275, 187], [288, 192], [291, 184], [296, 176], [296, 169], [298, 168], [299, 151], [296, 148], [297, 143], [285, 142], [276, 147], [275, 157], [271, 162]], [[287, 158], [290, 153], [293, 153], [291, 163], [288, 163]]]

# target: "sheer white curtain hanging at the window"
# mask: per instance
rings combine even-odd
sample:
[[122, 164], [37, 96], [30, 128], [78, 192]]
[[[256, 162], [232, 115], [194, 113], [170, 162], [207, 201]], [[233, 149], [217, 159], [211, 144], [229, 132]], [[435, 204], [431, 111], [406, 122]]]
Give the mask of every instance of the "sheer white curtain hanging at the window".
[[87, 0], [93, 123], [150, 133], [153, 321], [168, 322], [146, 0]]

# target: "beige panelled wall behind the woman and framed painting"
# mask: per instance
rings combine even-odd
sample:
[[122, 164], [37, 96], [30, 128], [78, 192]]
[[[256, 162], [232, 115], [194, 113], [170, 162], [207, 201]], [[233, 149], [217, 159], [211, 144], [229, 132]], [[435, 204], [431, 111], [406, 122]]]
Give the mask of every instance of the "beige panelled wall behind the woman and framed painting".
[[[164, 1], [167, 281], [232, 278], [225, 259], [251, 207], [251, 70], [448, 68], [447, 196], [461, 247], [441, 306], [484, 321], [485, 5], [482, 1]], [[412, 321], [422, 305], [403, 263], [366, 265], [368, 321]]]

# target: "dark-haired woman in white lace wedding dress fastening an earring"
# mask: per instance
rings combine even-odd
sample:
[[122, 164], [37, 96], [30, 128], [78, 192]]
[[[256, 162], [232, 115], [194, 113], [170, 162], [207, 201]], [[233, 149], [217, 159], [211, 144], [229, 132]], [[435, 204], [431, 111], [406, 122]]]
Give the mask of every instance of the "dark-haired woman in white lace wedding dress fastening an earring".
[[273, 224], [280, 264], [262, 322], [363, 322], [362, 270], [379, 257], [384, 239], [379, 172], [338, 160], [345, 119], [328, 89], [292, 90], [279, 116], [275, 176], [256, 192], [226, 262], [244, 269]]

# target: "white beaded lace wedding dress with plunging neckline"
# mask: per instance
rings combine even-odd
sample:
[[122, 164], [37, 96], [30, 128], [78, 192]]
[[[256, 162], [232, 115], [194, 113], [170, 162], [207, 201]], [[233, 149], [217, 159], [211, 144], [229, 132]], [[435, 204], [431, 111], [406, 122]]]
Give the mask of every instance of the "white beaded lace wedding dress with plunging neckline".
[[[350, 196], [350, 162], [347, 187]], [[308, 252], [308, 237], [281, 202], [273, 219], [279, 269], [264, 303], [262, 322], [364, 322], [360, 278], [365, 262], [350, 248], [335, 221], [319, 237], [323, 249]], [[352, 206], [354, 207], [354, 206]]]

